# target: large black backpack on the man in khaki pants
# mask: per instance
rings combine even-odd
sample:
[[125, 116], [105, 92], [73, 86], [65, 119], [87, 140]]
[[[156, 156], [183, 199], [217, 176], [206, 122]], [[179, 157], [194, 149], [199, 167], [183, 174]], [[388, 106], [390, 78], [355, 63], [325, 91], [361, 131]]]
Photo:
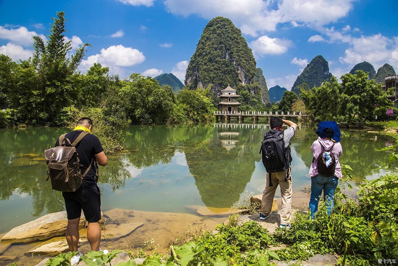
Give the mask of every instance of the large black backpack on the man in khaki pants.
[[263, 165], [269, 173], [269, 186], [272, 187], [271, 173], [288, 170], [285, 181], [289, 178], [289, 165], [292, 161], [290, 146], [285, 148], [283, 131], [271, 130], [264, 135], [261, 142], [260, 154]]

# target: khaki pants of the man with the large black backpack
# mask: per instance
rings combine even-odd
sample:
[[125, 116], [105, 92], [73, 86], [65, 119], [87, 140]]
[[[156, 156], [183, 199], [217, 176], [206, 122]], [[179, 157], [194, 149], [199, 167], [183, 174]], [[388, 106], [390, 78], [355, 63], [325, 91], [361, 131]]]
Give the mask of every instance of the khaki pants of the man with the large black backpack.
[[267, 216], [271, 212], [273, 198], [275, 196], [275, 191], [279, 186], [281, 187], [281, 197], [282, 205], [279, 210], [279, 215], [281, 215], [281, 225], [289, 225], [291, 211], [292, 211], [292, 180], [289, 169], [289, 179], [285, 182], [287, 175], [287, 170], [271, 173], [272, 187], [269, 186], [269, 173], [267, 173], [267, 181], [265, 184], [265, 189], [263, 191], [263, 198], [261, 200], [260, 213]]

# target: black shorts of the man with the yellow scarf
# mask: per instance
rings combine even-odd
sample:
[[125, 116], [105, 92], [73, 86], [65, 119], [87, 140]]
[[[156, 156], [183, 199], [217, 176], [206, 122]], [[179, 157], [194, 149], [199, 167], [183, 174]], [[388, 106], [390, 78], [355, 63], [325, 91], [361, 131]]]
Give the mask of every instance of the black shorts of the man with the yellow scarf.
[[86, 187], [82, 184], [74, 192], [62, 192], [62, 196], [68, 220], [79, 218], [82, 210], [89, 223], [101, 220], [101, 193], [98, 186]]

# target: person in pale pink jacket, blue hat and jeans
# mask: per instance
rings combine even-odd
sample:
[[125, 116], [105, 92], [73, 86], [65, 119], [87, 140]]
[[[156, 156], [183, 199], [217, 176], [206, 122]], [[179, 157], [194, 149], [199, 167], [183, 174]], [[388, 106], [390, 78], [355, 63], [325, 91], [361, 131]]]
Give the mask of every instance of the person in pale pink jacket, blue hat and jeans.
[[310, 167], [311, 196], [310, 215], [315, 218], [318, 211], [320, 195], [324, 194], [327, 212], [330, 215], [333, 210], [334, 191], [342, 177], [339, 157], [343, 153], [340, 144], [340, 129], [334, 121], [323, 121], [318, 125], [318, 139], [312, 143], [311, 151], [313, 160]]

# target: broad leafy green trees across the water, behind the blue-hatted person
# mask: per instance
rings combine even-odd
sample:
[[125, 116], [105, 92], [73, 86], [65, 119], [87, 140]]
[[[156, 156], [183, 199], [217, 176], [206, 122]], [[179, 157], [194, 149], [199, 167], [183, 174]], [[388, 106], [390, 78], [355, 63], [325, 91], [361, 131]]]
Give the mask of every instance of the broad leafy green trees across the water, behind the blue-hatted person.
[[380, 85], [368, 80], [367, 73], [344, 74], [340, 84], [336, 77], [320, 87], [302, 90], [306, 108], [317, 120], [364, 122], [385, 114], [391, 103]]

